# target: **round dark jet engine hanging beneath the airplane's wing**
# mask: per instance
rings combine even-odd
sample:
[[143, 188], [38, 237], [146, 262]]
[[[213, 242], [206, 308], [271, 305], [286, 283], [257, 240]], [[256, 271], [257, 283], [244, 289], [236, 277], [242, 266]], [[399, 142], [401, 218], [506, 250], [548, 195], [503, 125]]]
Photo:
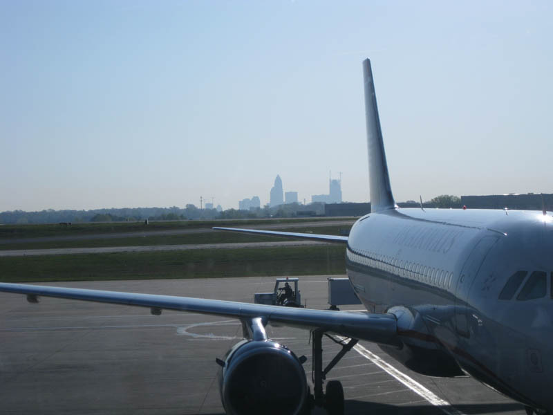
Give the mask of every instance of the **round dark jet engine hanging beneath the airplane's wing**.
[[243, 340], [227, 352], [219, 376], [227, 414], [299, 414], [308, 396], [297, 356], [272, 340]]

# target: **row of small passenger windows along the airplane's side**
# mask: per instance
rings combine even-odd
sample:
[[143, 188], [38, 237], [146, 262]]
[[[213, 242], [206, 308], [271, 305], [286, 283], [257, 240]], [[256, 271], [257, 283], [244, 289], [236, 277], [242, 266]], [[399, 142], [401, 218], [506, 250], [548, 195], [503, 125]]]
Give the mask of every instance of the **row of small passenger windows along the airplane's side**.
[[348, 257], [349, 256], [351, 261], [357, 262], [358, 264], [378, 268], [388, 271], [388, 273], [400, 275], [400, 277], [415, 279], [416, 281], [431, 284], [433, 286], [451, 288], [453, 273], [448, 273], [445, 270], [415, 264], [393, 257], [386, 257], [386, 255], [368, 253], [367, 256], [364, 256], [348, 251]]

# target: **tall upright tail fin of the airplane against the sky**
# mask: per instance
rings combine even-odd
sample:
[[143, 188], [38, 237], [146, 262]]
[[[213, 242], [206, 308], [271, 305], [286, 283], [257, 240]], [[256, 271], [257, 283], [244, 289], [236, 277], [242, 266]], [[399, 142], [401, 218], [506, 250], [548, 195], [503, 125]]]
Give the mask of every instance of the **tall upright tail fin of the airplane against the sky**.
[[367, 124], [368, 176], [371, 187], [371, 212], [397, 208], [393, 200], [388, 163], [384, 153], [382, 130], [376, 105], [375, 84], [371, 61], [363, 61], [363, 78], [365, 83], [365, 117]]

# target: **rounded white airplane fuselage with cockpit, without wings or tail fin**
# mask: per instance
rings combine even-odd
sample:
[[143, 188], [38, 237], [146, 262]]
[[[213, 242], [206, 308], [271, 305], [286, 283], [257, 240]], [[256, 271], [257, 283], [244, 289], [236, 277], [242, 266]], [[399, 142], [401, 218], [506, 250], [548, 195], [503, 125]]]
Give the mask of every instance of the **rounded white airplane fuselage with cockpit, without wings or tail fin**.
[[397, 316], [404, 347], [384, 350], [407, 367], [553, 409], [551, 252], [550, 213], [400, 209], [355, 223], [346, 264], [368, 311]]

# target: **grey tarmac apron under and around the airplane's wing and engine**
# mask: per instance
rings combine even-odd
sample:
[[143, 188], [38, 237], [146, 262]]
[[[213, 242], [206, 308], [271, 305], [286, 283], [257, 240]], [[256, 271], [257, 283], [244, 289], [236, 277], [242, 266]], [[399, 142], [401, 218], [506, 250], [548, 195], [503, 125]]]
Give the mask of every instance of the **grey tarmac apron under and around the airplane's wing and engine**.
[[[274, 277], [51, 285], [251, 302], [272, 290]], [[308, 307], [328, 308], [326, 276], [300, 277], [300, 290]], [[309, 333], [268, 333], [308, 357], [310, 379]], [[240, 324], [221, 317], [49, 298], [28, 304], [0, 293], [1, 413], [223, 414], [214, 360], [240, 338]], [[375, 345], [359, 346], [327, 378], [344, 385], [346, 414], [525, 414], [471, 378], [419, 376]], [[339, 347], [324, 340], [323, 349], [326, 364]]]

